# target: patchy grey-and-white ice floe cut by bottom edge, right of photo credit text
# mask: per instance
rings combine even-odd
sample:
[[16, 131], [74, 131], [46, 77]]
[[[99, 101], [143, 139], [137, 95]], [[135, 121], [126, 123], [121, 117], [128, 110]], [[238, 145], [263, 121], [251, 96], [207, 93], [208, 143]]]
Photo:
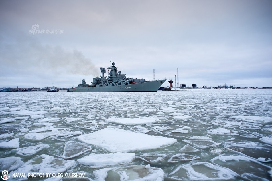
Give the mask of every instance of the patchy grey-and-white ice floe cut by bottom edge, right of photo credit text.
[[135, 180], [135, 181], [162, 181], [164, 172], [161, 168], [150, 165], [132, 165], [127, 167], [104, 168], [94, 171], [97, 181], [105, 180]]

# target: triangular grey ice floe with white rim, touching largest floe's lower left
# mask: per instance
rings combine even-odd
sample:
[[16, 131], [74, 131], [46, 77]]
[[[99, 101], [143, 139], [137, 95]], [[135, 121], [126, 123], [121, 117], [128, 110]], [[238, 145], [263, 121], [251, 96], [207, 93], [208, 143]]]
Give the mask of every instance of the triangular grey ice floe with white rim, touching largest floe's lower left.
[[62, 157], [65, 159], [70, 159], [86, 153], [90, 150], [92, 150], [92, 147], [84, 143], [68, 141], [65, 143]]

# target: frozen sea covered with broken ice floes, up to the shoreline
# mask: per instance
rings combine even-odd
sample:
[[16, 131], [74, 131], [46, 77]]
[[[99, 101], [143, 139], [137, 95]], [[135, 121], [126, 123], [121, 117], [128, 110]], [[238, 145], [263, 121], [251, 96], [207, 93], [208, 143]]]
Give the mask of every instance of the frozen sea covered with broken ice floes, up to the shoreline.
[[272, 180], [272, 89], [0, 92], [0, 127], [9, 176]]

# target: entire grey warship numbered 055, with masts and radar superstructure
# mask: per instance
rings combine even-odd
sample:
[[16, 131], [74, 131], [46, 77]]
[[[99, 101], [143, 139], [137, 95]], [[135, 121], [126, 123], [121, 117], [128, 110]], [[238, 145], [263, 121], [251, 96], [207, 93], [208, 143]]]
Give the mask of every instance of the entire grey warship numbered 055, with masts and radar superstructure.
[[117, 70], [115, 63], [108, 67], [109, 76], [104, 77], [105, 68], [100, 68], [102, 76], [93, 78], [92, 84], [82, 80], [77, 87], [69, 89], [70, 92], [157, 92], [159, 87], [166, 81], [127, 78]]

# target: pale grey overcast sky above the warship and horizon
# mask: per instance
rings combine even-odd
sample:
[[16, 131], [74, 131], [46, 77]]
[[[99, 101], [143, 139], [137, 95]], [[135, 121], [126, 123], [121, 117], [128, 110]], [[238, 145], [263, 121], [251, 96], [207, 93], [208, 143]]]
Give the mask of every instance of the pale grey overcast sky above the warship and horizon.
[[271, 32], [271, 0], [1, 0], [0, 87], [91, 83], [110, 59], [165, 87], [177, 68], [187, 86], [272, 87]]

